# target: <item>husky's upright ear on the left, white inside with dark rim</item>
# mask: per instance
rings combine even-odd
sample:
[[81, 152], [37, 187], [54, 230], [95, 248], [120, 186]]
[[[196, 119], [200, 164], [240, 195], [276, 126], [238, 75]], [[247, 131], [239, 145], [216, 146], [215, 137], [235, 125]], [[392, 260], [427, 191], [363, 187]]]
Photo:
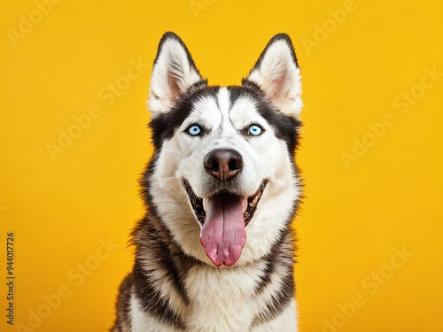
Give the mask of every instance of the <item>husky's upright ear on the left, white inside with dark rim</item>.
[[148, 108], [151, 118], [166, 113], [177, 99], [198, 81], [206, 83], [178, 35], [167, 32], [159, 42], [152, 68]]

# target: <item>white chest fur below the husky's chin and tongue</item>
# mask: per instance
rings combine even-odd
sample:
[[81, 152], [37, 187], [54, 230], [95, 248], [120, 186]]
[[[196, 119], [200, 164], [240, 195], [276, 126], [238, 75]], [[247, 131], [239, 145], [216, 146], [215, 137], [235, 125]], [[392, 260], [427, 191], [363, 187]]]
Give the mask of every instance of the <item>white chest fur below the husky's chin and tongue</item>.
[[[252, 268], [253, 267], [253, 268]], [[258, 298], [255, 285], [260, 281], [264, 263], [257, 262], [245, 268], [214, 269], [212, 266], [194, 267], [186, 280], [185, 287], [190, 296], [187, 309], [182, 306], [183, 317], [187, 317], [187, 328], [192, 332], [244, 332], [245, 326], [253, 323], [255, 314], [262, 310], [274, 290], [283, 282], [284, 274], [272, 275], [269, 282], [272, 287]], [[157, 284], [167, 283], [167, 279]], [[170, 301], [170, 304], [175, 301]], [[133, 294], [130, 300], [132, 332], [182, 332], [152, 318], [141, 309], [139, 301]], [[275, 320], [251, 328], [251, 332], [297, 331], [297, 308], [295, 300], [286, 307], [284, 313]]]

